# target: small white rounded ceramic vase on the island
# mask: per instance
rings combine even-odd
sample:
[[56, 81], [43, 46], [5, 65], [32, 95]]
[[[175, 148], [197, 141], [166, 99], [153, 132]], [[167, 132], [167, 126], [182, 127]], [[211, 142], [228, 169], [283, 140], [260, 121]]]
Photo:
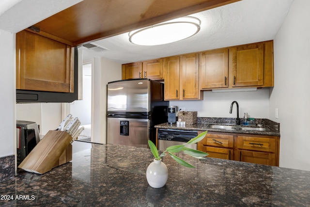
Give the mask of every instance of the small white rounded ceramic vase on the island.
[[168, 168], [166, 164], [161, 159], [154, 159], [146, 169], [146, 179], [153, 188], [163, 187], [168, 180]]

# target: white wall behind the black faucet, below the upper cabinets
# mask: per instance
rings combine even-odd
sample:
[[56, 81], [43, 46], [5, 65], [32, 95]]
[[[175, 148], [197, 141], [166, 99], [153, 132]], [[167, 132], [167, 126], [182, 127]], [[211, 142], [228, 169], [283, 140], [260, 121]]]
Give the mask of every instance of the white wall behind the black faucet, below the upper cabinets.
[[199, 117], [236, 117], [236, 105], [233, 113], [229, 113], [231, 103], [237, 101], [239, 117], [248, 112], [250, 117], [267, 118], [269, 115], [269, 88], [248, 92], [203, 92], [203, 100], [198, 101], [170, 101], [171, 106], [178, 106], [178, 110], [198, 111]]

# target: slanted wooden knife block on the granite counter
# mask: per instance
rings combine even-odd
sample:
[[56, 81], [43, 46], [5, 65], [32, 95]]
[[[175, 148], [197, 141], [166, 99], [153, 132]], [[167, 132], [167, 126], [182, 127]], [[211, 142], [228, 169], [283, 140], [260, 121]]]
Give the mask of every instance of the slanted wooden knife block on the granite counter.
[[50, 130], [18, 168], [44, 174], [72, 160], [72, 137], [65, 131]]

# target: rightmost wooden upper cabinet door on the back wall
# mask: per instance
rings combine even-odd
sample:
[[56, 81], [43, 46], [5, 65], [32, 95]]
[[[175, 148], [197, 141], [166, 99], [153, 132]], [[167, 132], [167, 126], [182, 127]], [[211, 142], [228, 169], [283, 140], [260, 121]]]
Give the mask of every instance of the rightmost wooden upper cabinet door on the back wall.
[[230, 48], [232, 87], [262, 86], [264, 72], [264, 44]]

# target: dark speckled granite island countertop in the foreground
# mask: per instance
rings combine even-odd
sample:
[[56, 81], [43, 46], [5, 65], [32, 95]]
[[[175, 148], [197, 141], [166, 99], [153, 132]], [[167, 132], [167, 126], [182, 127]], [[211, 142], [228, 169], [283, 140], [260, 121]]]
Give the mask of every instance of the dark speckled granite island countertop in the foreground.
[[0, 206], [310, 206], [310, 172], [224, 159], [164, 157], [166, 185], [150, 187], [149, 149], [75, 141], [73, 160], [44, 175], [19, 171], [0, 183]]

